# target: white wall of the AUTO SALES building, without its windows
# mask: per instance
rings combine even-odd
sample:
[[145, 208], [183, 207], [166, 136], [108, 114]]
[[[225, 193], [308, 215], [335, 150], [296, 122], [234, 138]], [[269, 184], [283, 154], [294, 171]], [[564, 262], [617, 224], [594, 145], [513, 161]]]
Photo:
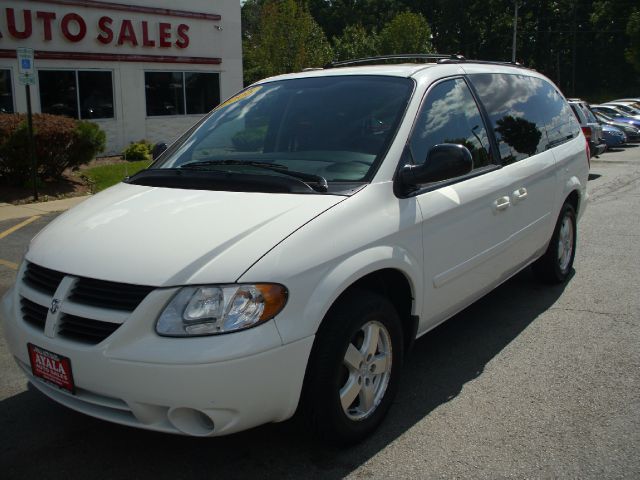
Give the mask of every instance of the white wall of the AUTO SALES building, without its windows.
[[[145, 8], [151, 10], [139, 11]], [[115, 118], [92, 120], [107, 133], [107, 154], [143, 138], [170, 143], [202, 117], [147, 116], [145, 72], [218, 73], [221, 101], [242, 88], [238, 0], [133, 0], [124, 6], [83, 0], [3, 0], [0, 35], [0, 69], [12, 71], [18, 112], [25, 112], [27, 105], [25, 88], [18, 84], [16, 48], [36, 51], [36, 70], [112, 72]], [[31, 92], [33, 111], [40, 112], [38, 85]]]

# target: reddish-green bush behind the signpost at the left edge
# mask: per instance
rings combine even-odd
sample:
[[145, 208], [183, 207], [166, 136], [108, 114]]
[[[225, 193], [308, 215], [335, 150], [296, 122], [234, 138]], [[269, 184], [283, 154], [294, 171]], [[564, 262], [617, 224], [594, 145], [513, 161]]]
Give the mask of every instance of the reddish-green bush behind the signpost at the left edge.
[[[40, 181], [62, 176], [67, 168], [91, 161], [104, 151], [106, 136], [91, 123], [58, 115], [33, 115]], [[24, 114], [0, 114], [0, 181], [21, 186], [31, 181], [29, 135]]]

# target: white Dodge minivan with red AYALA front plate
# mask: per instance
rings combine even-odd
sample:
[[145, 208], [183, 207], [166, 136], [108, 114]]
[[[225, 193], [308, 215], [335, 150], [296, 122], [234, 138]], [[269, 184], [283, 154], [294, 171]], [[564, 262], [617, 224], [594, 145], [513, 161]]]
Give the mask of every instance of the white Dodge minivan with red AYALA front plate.
[[29, 381], [160, 432], [299, 411], [355, 442], [417, 337], [529, 265], [565, 281], [588, 159], [563, 95], [509, 64], [385, 62], [258, 82], [42, 230], [0, 308]]

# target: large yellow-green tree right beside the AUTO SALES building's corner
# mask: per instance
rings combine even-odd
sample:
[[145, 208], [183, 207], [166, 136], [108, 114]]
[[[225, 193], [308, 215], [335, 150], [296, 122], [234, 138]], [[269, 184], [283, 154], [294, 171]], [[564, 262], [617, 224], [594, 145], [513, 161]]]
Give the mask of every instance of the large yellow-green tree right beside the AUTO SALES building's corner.
[[331, 60], [331, 46], [306, 4], [296, 0], [260, 3], [251, 4], [260, 8], [256, 31], [245, 32], [245, 82], [321, 67]]

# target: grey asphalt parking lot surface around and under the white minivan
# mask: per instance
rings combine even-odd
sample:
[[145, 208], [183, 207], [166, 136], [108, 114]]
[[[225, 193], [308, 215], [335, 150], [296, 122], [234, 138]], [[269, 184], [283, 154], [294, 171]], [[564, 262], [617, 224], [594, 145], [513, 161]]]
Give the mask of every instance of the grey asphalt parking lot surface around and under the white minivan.
[[[639, 478], [640, 145], [592, 159], [589, 191], [569, 283], [524, 271], [421, 338], [360, 445], [319, 444], [295, 421], [194, 439], [95, 420], [29, 387], [0, 335], [0, 475]], [[0, 293], [54, 217], [0, 222]]]

